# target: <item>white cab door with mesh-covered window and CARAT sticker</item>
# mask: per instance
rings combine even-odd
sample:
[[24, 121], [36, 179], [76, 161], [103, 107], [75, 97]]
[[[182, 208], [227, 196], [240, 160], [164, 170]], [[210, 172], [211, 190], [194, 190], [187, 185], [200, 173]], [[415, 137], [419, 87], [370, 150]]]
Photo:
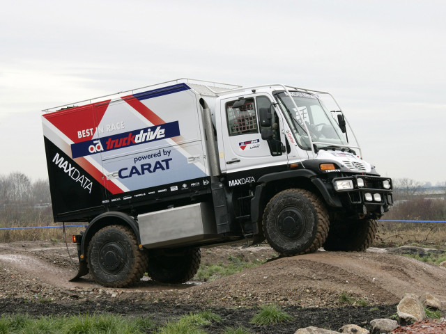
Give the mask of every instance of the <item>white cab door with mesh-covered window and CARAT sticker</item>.
[[242, 170], [287, 164], [288, 158], [283, 134], [283, 120], [278, 113], [272, 115], [270, 129], [273, 138], [261, 138], [259, 108], [270, 108], [268, 95], [248, 95], [220, 101], [220, 116], [224, 154], [220, 154], [222, 171], [235, 173]]

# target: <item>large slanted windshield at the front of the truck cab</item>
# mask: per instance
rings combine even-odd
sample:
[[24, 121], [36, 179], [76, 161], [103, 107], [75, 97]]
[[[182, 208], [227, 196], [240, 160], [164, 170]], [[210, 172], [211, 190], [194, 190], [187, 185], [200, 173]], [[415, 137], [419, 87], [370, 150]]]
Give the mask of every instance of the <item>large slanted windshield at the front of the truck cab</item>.
[[[295, 109], [289, 95], [293, 98], [298, 109]], [[291, 91], [290, 94], [282, 92], [275, 96], [300, 148], [310, 150], [309, 138], [303, 122], [307, 125], [312, 141], [321, 142], [316, 144], [318, 148], [332, 144], [347, 145], [344, 134], [337, 121], [334, 120], [334, 117], [337, 117], [337, 112], [328, 111], [316, 95]]]

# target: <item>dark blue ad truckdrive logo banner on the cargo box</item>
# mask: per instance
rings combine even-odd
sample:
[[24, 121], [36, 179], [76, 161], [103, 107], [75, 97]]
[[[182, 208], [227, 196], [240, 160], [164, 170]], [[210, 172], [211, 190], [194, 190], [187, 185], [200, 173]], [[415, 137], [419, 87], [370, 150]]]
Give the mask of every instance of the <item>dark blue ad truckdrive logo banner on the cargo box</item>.
[[97, 138], [91, 141], [74, 143], [71, 144], [71, 153], [74, 159], [98, 152], [117, 150], [118, 148], [159, 141], [179, 135], [180, 127], [178, 121], [175, 121], [130, 132], [123, 132], [122, 134], [115, 134], [113, 136]]

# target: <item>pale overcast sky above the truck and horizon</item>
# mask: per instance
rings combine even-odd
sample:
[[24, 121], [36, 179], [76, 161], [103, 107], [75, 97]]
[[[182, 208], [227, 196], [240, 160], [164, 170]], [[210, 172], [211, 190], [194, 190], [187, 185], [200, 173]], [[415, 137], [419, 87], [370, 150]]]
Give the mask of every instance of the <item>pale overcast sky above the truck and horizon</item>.
[[328, 90], [381, 175], [446, 181], [446, 1], [0, 4], [0, 174], [47, 177], [42, 109], [190, 77]]

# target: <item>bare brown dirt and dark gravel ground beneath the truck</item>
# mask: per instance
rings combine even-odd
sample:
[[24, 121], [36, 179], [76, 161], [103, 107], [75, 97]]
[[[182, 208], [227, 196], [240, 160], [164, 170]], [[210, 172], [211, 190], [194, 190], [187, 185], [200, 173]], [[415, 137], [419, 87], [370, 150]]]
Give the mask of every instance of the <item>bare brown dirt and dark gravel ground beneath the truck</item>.
[[[76, 257], [74, 245], [68, 244], [68, 250]], [[294, 333], [306, 326], [334, 330], [344, 324], [367, 327], [372, 319], [394, 315], [395, 304], [406, 292], [430, 292], [446, 308], [446, 270], [382, 252], [318, 251], [277, 258], [268, 246], [204, 248], [203, 265], [228, 262], [229, 255], [268, 262], [212, 282], [166, 285], [144, 277], [130, 289], [108, 289], [94, 283], [91, 276], [69, 281], [77, 267], [65, 244], [0, 244], [0, 313], [112, 312], [148, 316], [162, 324], [210, 308], [224, 320], [208, 327], [208, 333], [240, 325], [251, 328], [252, 333]], [[353, 305], [341, 303], [341, 294], [350, 296]], [[294, 320], [275, 326], [249, 324], [257, 307], [266, 303], [281, 305]], [[360, 306], [365, 303], [367, 306]]]

